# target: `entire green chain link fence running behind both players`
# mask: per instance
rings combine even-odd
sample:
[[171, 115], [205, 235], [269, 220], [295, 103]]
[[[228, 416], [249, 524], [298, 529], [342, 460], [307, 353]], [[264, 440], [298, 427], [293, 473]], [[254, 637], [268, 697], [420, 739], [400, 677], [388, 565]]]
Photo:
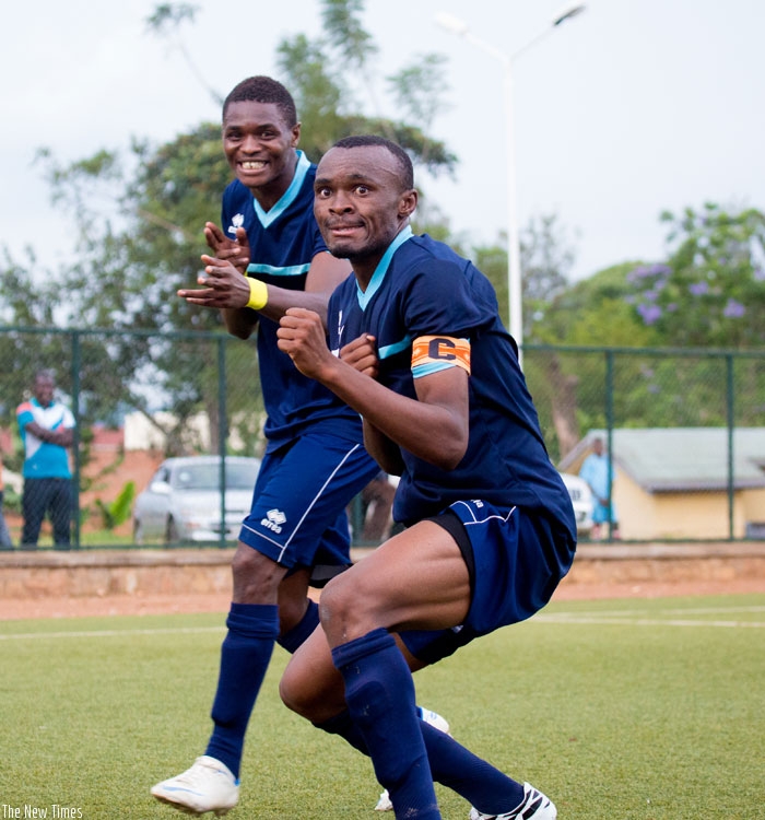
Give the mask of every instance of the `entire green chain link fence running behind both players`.
[[[765, 352], [526, 345], [523, 368], [584, 541], [765, 538]], [[56, 398], [75, 420], [71, 538], [59, 547], [231, 546], [238, 527], [229, 518], [249, 502], [228, 484], [248, 464], [257, 467], [251, 459], [264, 444], [255, 341], [201, 331], [0, 329], [7, 548], [19, 548], [24, 523], [16, 409], [40, 370], [54, 373]], [[599, 500], [578, 476], [597, 440], [611, 480], [600, 525], [592, 520]], [[173, 477], [158, 472], [165, 459], [211, 455], [223, 459], [208, 494], [176, 502]], [[239, 459], [250, 461], [240, 470]], [[153, 534], [138, 527], [150, 485], [161, 520]], [[369, 492], [351, 504], [356, 544], [368, 543], [370, 519], [379, 529], [377, 505], [387, 495]], [[186, 530], [162, 522], [172, 503], [189, 516]], [[54, 546], [50, 517], [39, 549]]]

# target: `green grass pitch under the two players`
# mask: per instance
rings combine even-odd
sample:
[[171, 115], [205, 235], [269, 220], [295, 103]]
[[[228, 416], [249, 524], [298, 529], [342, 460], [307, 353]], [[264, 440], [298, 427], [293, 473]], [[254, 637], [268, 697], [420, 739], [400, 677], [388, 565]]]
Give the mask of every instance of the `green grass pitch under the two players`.
[[[222, 623], [0, 623], [0, 817], [54, 805], [87, 820], [181, 817], [149, 787], [203, 751]], [[549, 794], [561, 820], [756, 820], [764, 630], [765, 595], [554, 604], [417, 673], [419, 702]], [[232, 819], [385, 817], [369, 762], [278, 701], [285, 661], [278, 649]], [[438, 796], [445, 818], [467, 820], [463, 800]]]

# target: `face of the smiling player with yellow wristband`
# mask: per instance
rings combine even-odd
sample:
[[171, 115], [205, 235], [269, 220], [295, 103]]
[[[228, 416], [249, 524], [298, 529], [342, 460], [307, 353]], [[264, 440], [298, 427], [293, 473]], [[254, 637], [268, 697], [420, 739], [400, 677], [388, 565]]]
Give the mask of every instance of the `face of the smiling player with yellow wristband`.
[[289, 126], [275, 103], [231, 103], [223, 120], [223, 151], [228, 165], [256, 195], [273, 189], [281, 196], [287, 189], [299, 136], [299, 124]]

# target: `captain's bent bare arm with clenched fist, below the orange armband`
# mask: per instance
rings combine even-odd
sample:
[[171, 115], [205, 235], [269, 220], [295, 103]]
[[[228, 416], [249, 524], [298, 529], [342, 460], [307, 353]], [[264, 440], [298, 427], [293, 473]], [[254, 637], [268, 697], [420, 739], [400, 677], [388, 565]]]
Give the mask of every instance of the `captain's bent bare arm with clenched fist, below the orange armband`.
[[[279, 349], [384, 435], [419, 458], [454, 469], [468, 447], [468, 373], [449, 367], [416, 380], [416, 399], [393, 393], [327, 348], [318, 315], [302, 308], [280, 323]], [[423, 434], [427, 431], [427, 435]]]

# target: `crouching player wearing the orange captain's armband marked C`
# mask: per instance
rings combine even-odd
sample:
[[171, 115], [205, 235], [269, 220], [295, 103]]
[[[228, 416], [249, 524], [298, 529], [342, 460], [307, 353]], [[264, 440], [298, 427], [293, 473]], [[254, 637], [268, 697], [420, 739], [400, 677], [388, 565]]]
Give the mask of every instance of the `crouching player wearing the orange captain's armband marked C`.
[[281, 694], [370, 755], [397, 818], [439, 818], [436, 781], [472, 803], [475, 820], [552, 820], [541, 792], [416, 719], [412, 665], [391, 634], [435, 663], [533, 616], [576, 549], [494, 289], [448, 246], [413, 235], [416, 202], [409, 155], [388, 140], [350, 137], [319, 163], [317, 222], [354, 277], [330, 300], [329, 348], [304, 308], [286, 312], [279, 345], [362, 414], [367, 449], [401, 476], [393, 517], [405, 529], [327, 585], [322, 632], [293, 655]]

